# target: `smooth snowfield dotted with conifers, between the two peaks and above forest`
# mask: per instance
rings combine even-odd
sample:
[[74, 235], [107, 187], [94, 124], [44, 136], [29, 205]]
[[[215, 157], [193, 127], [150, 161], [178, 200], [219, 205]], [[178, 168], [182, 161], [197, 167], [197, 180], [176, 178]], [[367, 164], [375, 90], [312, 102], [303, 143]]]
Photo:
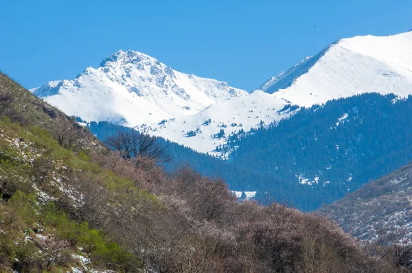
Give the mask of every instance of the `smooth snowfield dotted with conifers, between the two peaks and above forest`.
[[[192, 147], [198, 152], [209, 152], [225, 158], [227, 154], [219, 154], [214, 150], [216, 146], [225, 143], [229, 134], [240, 130], [249, 132], [251, 128], [268, 126], [271, 122], [287, 118], [297, 111], [286, 105], [288, 104], [284, 99], [258, 91], [212, 104], [196, 115], [168, 119], [155, 126], [141, 125], [136, 129]], [[218, 136], [220, 130], [225, 132], [224, 137]]]

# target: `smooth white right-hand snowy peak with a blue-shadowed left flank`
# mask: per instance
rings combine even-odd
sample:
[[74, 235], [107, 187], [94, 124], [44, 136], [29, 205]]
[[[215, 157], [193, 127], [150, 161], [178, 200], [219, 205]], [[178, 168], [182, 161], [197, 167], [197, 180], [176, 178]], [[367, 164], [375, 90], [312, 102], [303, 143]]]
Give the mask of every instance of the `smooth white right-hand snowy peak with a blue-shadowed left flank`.
[[412, 32], [356, 36], [326, 47], [259, 89], [299, 106], [361, 93], [412, 94]]

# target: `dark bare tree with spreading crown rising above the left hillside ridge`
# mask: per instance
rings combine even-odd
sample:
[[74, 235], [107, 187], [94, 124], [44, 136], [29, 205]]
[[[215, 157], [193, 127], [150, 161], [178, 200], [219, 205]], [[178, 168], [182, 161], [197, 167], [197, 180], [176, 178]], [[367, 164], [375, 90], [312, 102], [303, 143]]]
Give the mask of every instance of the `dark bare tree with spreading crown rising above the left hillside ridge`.
[[157, 137], [141, 134], [133, 129], [128, 132], [117, 132], [115, 136], [106, 139], [106, 144], [121, 152], [124, 158], [143, 157], [149, 158], [155, 163], [172, 161], [168, 147], [161, 145]]

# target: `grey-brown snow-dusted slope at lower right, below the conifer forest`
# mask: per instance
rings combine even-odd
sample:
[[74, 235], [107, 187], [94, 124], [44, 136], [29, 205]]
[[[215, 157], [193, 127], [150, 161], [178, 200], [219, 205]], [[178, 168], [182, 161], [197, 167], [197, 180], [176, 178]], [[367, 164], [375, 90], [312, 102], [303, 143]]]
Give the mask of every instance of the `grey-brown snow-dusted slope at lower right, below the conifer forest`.
[[393, 171], [358, 191], [319, 209], [354, 237], [373, 241], [380, 237], [411, 244], [412, 164]]

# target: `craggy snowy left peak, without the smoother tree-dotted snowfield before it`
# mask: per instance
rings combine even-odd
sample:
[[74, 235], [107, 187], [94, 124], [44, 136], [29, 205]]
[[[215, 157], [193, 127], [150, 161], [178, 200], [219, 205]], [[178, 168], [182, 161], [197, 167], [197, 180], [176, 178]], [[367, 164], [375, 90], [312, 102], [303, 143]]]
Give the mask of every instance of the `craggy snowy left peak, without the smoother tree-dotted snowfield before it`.
[[49, 82], [32, 92], [67, 115], [130, 127], [194, 115], [216, 102], [247, 95], [226, 82], [174, 71], [136, 51], [117, 51], [98, 69], [89, 67], [74, 80]]

